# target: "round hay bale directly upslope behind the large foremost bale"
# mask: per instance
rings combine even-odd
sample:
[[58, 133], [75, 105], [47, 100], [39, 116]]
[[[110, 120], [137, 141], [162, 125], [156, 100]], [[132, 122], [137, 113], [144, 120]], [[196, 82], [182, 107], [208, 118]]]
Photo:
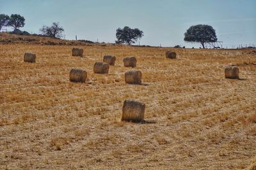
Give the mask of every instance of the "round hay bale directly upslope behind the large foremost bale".
[[141, 84], [141, 71], [129, 70], [124, 74], [125, 83], [129, 84]]

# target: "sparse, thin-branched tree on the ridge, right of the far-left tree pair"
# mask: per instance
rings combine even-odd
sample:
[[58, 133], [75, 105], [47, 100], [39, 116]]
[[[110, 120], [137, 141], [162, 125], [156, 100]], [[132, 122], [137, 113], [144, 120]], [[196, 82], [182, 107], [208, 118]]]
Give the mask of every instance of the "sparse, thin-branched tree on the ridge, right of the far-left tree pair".
[[61, 38], [64, 29], [61, 27], [59, 22], [52, 22], [50, 27], [44, 25], [40, 31], [45, 36], [50, 36], [51, 38]]

